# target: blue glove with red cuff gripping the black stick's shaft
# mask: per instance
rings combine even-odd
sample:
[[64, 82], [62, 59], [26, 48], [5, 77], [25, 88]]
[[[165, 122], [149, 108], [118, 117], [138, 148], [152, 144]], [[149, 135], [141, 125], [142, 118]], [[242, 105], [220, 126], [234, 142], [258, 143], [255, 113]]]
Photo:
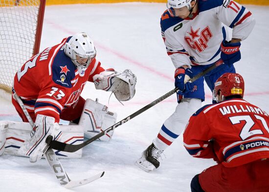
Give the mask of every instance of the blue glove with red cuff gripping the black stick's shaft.
[[175, 71], [175, 87], [179, 88], [179, 94], [183, 95], [193, 90], [193, 83], [189, 80], [193, 77], [190, 68], [180, 67]]

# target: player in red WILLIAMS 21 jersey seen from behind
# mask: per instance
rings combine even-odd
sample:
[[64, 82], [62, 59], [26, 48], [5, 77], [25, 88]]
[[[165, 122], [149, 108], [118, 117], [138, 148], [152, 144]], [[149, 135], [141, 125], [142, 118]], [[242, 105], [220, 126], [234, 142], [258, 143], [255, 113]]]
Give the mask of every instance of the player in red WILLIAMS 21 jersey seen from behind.
[[239, 74], [219, 77], [214, 95], [218, 103], [193, 114], [183, 134], [189, 154], [218, 163], [192, 179], [192, 192], [268, 192], [268, 114], [243, 99]]

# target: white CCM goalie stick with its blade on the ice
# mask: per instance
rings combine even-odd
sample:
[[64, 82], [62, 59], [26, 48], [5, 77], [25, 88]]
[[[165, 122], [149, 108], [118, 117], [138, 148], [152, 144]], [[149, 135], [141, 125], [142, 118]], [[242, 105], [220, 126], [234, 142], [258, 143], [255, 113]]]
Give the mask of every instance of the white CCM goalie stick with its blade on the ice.
[[[32, 127], [34, 127], [34, 122], [33, 122], [32, 118], [31, 118], [31, 116], [28, 114], [24, 104], [22, 103], [22, 99], [15, 93], [15, 91], [14, 91], [13, 96], [18, 101], [18, 103], [20, 104], [20, 106], [22, 108], [22, 111], [25, 114], [25, 116], [27, 117], [30, 125]], [[46, 142], [47, 142], [47, 140], [52, 140], [52, 136], [49, 135], [46, 138]], [[49, 145], [47, 147], [49, 147]], [[44, 156], [45, 156], [45, 159], [48, 162], [50, 168], [55, 173], [58, 181], [60, 182], [60, 185], [64, 186], [65, 188], [73, 188], [73, 187], [78, 187], [78, 186], [85, 185], [85, 184], [90, 183], [90, 182], [92, 182], [92, 181], [94, 181], [96, 179], [101, 178], [105, 174], [105, 172], [102, 172], [102, 173], [98, 173], [98, 174], [93, 175], [93, 176], [91, 176], [89, 178], [86, 178], [86, 179], [74, 181], [74, 180], [69, 179], [67, 173], [64, 170], [64, 167], [62, 166], [62, 164], [59, 161], [57, 155], [54, 153], [54, 151], [51, 148], [49, 148], [45, 152]]]

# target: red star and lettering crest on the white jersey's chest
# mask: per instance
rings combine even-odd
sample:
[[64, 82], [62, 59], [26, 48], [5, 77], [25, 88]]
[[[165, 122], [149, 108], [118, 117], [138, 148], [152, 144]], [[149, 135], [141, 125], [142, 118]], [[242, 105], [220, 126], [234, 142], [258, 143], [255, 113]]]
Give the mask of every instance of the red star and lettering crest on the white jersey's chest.
[[187, 36], [185, 36], [184, 39], [192, 49], [196, 49], [197, 51], [202, 52], [208, 47], [207, 42], [212, 37], [213, 34], [211, 33], [208, 26], [202, 30], [200, 30], [200, 28], [194, 30], [191, 27], [190, 32], [187, 32]]

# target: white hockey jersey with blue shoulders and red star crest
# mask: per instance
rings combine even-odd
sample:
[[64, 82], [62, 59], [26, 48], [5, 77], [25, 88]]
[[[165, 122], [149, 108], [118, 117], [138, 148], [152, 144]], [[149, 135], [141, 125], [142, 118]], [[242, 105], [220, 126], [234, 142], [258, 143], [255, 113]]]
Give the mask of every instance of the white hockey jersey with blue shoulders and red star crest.
[[167, 54], [176, 68], [207, 65], [220, 59], [226, 38], [224, 25], [232, 28], [232, 38], [244, 40], [252, 31], [252, 14], [233, 0], [197, 0], [198, 11], [191, 18], [161, 16], [161, 34]]

